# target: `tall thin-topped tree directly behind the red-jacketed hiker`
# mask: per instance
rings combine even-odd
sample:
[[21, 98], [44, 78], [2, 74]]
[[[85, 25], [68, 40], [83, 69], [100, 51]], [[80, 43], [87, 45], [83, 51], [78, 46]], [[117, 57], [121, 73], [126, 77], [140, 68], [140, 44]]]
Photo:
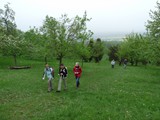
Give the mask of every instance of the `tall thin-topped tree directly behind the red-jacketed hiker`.
[[69, 29], [70, 45], [73, 46], [71, 47], [72, 51], [81, 59], [82, 66], [83, 61], [88, 61], [90, 56], [89, 49], [87, 47], [87, 43], [92, 39], [93, 35], [93, 32], [87, 29], [87, 22], [90, 20], [91, 18], [87, 18], [87, 13], [84, 12], [83, 17], [79, 17], [77, 15], [74, 18]]

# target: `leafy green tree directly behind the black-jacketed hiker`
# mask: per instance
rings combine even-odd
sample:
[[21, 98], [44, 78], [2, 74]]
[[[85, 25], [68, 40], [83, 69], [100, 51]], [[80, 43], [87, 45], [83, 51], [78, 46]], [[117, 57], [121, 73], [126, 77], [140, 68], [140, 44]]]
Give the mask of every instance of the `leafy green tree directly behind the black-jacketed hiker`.
[[53, 17], [46, 16], [44, 24], [41, 28], [41, 31], [46, 36], [48, 49], [56, 56], [59, 60], [59, 64], [62, 63], [63, 57], [67, 54], [68, 51], [68, 25], [70, 24], [70, 19], [67, 15], [62, 15], [60, 21], [56, 20]]

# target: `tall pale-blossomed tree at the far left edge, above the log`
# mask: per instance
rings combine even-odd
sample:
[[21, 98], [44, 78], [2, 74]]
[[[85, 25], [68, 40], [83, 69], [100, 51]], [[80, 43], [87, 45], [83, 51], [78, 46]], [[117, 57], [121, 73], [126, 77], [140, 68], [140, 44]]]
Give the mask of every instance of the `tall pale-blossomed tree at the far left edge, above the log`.
[[4, 10], [0, 9], [0, 49], [3, 55], [11, 55], [17, 65], [17, 56], [22, 55], [26, 48], [23, 33], [16, 28], [15, 12], [9, 7], [9, 3], [4, 5]]

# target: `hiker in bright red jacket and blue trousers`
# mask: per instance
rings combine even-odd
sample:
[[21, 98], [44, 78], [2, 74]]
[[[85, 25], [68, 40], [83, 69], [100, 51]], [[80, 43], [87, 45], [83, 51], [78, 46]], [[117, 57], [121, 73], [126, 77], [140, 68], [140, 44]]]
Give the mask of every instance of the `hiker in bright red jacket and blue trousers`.
[[76, 87], [78, 88], [79, 85], [80, 85], [79, 80], [80, 80], [81, 73], [82, 73], [82, 69], [81, 69], [81, 67], [79, 66], [79, 63], [78, 63], [78, 62], [76, 62], [76, 65], [75, 65], [74, 68], [73, 68], [73, 72], [74, 72], [74, 75], [75, 75], [75, 77], [76, 77]]

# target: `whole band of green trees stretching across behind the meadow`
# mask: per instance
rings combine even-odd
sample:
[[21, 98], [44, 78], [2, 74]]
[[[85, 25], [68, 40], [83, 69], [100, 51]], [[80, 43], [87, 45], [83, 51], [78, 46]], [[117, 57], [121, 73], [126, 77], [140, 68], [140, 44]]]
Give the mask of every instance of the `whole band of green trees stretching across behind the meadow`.
[[132, 65], [142, 63], [160, 64], [160, 3], [157, 10], [150, 11], [151, 20], [147, 21], [145, 34], [130, 33], [122, 42], [109, 45], [100, 38], [93, 38], [93, 32], [87, 29], [87, 18], [76, 16], [68, 18], [66, 14], [59, 19], [46, 16], [41, 27], [30, 28], [23, 32], [17, 29], [15, 12], [9, 3], [0, 9], [0, 55], [13, 56], [17, 65], [17, 57], [28, 59], [56, 58], [59, 64], [68, 57], [83, 62], [100, 62], [104, 54], [119, 61], [127, 59]]

